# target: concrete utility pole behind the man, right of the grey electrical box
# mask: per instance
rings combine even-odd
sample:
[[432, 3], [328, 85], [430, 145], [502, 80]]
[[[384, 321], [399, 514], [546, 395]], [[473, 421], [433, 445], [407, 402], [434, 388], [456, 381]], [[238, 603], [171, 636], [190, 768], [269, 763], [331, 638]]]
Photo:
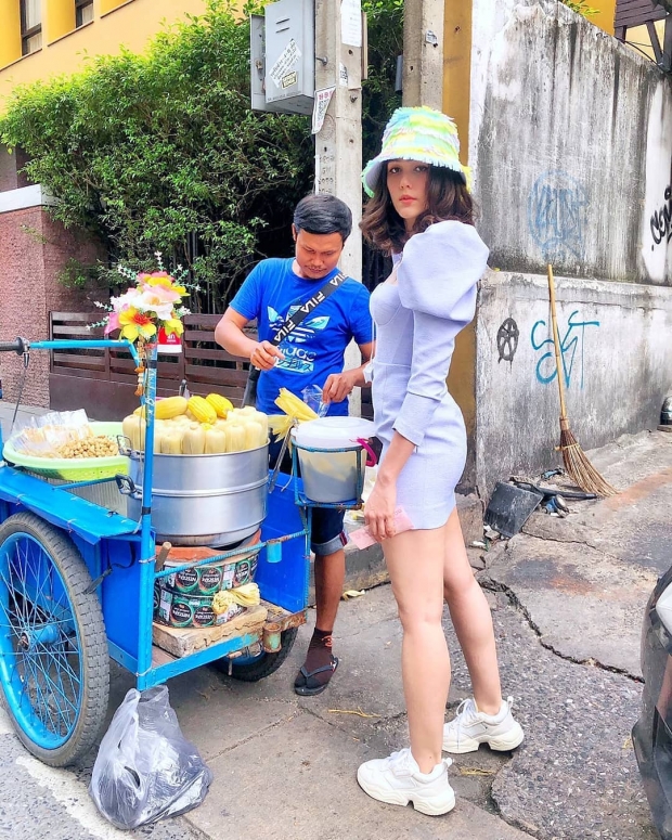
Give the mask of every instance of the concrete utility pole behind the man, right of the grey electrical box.
[[[316, 192], [331, 193], [352, 211], [352, 233], [340, 268], [362, 280], [362, 15], [361, 0], [315, 0], [315, 91], [335, 88], [315, 134]], [[346, 367], [361, 364], [359, 349], [346, 352]], [[350, 413], [361, 414], [359, 390]]]

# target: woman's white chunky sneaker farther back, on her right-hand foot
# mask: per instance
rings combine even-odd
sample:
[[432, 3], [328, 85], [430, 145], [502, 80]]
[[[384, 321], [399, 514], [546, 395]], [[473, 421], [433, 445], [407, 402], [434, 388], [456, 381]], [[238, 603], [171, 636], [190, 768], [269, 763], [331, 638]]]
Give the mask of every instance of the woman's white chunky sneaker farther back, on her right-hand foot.
[[492, 750], [514, 750], [522, 742], [525, 734], [511, 713], [514, 698], [502, 700], [500, 713], [483, 714], [474, 699], [463, 700], [454, 720], [443, 726], [445, 752], [474, 752], [481, 744]]

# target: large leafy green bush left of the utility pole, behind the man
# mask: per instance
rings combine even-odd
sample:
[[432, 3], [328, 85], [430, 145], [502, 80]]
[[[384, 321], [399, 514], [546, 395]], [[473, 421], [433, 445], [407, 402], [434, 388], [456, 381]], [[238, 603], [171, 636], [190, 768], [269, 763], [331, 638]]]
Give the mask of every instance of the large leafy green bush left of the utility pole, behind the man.
[[172, 255], [210, 311], [246, 273], [264, 229], [287, 227], [312, 177], [308, 119], [249, 109], [249, 25], [230, 0], [161, 31], [143, 54], [122, 50], [20, 88], [0, 137], [59, 197], [56, 219], [138, 268], [156, 249]]

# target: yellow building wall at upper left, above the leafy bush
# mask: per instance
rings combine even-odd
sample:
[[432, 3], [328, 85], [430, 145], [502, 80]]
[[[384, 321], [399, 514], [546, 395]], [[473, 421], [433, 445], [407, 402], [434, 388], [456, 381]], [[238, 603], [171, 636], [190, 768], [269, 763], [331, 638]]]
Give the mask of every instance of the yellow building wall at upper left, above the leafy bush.
[[[236, 4], [243, 7], [243, 0]], [[124, 44], [141, 51], [161, 29], [203, 14], [205, 0], [94, 0], [94, 20], [75, 29], [74, 0], [42, 0], [42, 43], [21, 57], [18, 0], [0, 0], [0, 111], [17, 85], [76, 73], [86, 56], [111, 55]]]

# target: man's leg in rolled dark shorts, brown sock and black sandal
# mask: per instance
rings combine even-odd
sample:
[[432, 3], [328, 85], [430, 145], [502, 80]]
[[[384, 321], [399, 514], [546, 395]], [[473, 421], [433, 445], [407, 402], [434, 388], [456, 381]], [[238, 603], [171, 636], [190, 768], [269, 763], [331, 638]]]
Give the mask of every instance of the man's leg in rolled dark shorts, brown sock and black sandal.
[[346, 577], [346, 538], [343, 533], [343, 513], [333, 508], [313, 509], [311, 548], [315, 555], [315, 630], [306, 662], [294, 687], [297, 694], [313, 695], [323, 692], [338, 664], [332, 654], [332, 633], [343, 595]]

